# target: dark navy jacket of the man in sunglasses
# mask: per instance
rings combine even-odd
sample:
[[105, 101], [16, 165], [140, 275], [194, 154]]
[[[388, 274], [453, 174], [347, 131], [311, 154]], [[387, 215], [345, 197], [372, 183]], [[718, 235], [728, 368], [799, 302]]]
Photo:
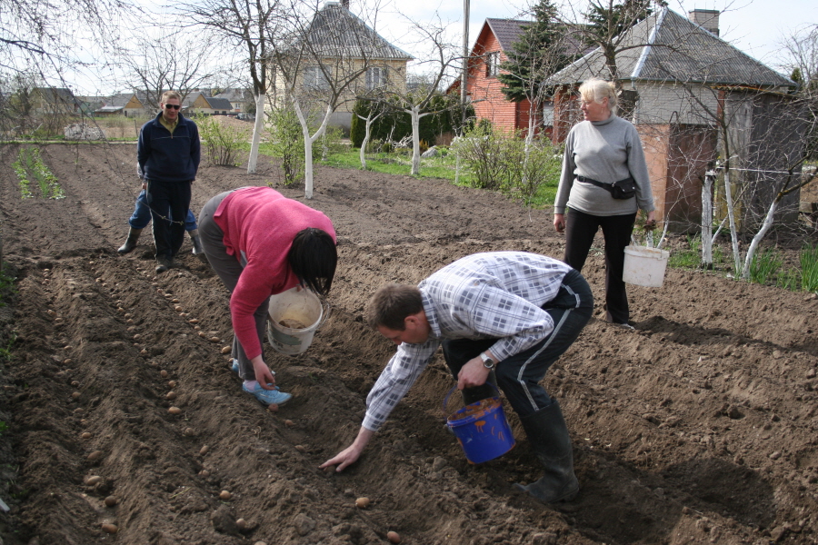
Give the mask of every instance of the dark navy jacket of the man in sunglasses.
[[202, 156], [199, 129], [179, 114], [174, 133], [160, 123], [159, 115], [142, 125], [136, 144], [136, 161], [145, 179], [156, 182], [189, 182], [195, 180]]

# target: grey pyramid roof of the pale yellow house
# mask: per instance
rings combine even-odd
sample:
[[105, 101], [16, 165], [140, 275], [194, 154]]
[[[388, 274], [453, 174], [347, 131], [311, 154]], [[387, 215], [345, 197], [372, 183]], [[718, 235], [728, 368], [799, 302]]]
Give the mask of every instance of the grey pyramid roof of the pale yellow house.
[[[307, 29], [316, 54], [328, 57], [364, 54], [373, 59], [410, 60], [412, 55], [390, 44], [340, 4], [327, 2]], [[298, 46], [297, 44], [295, 45]], [[339, 55], [340, 52], [340, 55]]]

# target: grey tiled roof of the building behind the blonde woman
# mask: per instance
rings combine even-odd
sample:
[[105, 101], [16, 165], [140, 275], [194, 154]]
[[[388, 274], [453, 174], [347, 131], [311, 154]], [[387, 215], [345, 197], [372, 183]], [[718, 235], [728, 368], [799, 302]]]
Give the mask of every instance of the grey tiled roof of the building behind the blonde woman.
[[[618, 49], [620, 80], [794, 85], [789, 78], [668, 8], [634, 25], [623, 35]], [[599, 48], [552, 75], [546, 83], [575, 84], [592, 77], [610, 77]]]

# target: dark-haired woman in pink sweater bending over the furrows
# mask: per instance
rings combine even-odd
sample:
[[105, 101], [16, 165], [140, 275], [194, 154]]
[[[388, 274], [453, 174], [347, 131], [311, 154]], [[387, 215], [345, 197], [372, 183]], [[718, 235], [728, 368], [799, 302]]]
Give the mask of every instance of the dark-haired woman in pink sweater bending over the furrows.
[[232, 353], [242, 389], [265, 405], [289, 401], [264, 362], [270, 296], [295, 286], [329, 293], [338, 262], [333, 223], [269, 187], [242, 187], [205, 204], [199, 233], [207, 261], [231, 293]]

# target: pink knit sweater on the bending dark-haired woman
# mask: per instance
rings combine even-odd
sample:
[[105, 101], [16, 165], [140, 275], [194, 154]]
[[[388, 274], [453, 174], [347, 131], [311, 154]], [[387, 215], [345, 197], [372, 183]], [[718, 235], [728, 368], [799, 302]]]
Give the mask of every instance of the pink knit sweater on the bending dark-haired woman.
[[230, 315], [235, 335], [252, 360], [262, 353], [253, 313], [270, 295], [298, 285], [287, 263], [295, 235], [314, 227], [337, 242], [335, 230], [324, 213], [269, 187], [230, 193], [219, 204], [214, 221], [224, 232], [227, 253], [244, 267], [230, 297]]

